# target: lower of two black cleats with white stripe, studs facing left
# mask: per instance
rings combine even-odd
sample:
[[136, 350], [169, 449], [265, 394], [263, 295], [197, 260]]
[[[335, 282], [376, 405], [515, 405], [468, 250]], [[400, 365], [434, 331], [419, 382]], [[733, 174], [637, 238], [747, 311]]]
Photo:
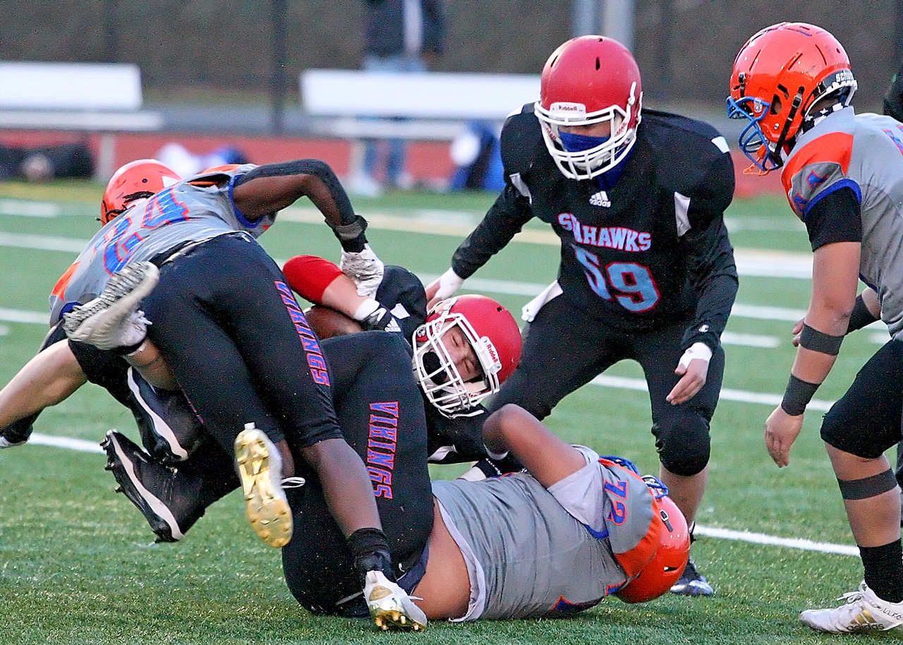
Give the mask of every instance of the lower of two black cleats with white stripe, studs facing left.
[[100, 444], [107, 453], [107, 471], [113, 472], [117, 492], [144, 514], [157, 542], [177, 542], [204, 514], [200, 478], [155, 463], [126, 435], [107, 432]]

